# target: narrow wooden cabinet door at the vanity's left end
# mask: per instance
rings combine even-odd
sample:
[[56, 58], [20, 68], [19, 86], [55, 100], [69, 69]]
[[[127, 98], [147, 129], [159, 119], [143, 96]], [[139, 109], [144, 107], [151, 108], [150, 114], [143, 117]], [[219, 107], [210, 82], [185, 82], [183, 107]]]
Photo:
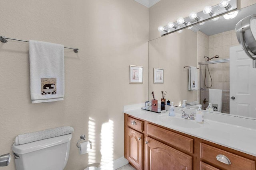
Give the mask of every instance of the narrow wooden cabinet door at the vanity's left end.
[[127, 160], [137, 169], [142, 170], [143, 134], [127, 128]]

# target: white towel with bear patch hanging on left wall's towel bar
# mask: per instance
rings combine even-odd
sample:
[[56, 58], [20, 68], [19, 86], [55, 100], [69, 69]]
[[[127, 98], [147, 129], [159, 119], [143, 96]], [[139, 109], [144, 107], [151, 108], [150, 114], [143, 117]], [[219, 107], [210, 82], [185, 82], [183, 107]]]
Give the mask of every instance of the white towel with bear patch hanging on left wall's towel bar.
[[29, 41], [30, 96], [32, 103], [64, 98], [64, 46]]

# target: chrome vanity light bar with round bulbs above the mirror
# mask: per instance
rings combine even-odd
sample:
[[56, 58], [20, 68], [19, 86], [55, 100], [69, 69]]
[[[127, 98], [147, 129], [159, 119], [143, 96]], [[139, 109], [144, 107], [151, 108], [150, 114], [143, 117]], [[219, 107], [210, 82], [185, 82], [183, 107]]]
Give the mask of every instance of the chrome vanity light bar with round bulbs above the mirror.
[[[237, 0], [222, 0], [219, 4], [215, 6], [206, 6], [201, 12], [192, 12], [190, 16], [186, 18], [178, 18], [178, 20], [172, 24], [168, 23], [168, 25], [164, 27], [158, 27], [158, 31], [161, 32], [161, 35], [167, 35], [172, 32], [182, 32], [182, 29], [188, 28], [191, 29], [193, 25], [196, 24], [204, 24], [205, 21], [211, 19], [217, 19], [222, 14], [228, 14], [237, 9]], [[161, 28], [161, 29], [159, 29]], [[196, 28], [196, 31], [198, 29]]]

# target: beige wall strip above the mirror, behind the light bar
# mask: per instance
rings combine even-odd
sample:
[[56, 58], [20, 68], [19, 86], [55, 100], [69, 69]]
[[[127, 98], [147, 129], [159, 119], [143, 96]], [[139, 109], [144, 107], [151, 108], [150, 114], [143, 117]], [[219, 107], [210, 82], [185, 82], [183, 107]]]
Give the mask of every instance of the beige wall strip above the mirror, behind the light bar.
[[[221, 0], [161, 0], [149, 8], [149, 39], [161, 37], [158, 26], [177, 21], [179, 17], [188, 17], [191, 12], [200, 12], [205, 6], [214, 6]], [[238, 0], [238, 8], [255, 4], [255, 0]]]

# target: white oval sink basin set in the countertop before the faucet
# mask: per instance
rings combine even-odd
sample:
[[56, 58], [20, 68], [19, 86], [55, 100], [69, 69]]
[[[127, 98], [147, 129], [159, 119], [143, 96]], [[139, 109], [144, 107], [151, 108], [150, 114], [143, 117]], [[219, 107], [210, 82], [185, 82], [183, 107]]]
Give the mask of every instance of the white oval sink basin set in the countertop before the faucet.
[[182, 117], [171, 117], [168, 115], [160, 115], [160, 121], [168, 123], [169, 125], [184, 127], [184, 128], [200, 128], [200, 124], [195, 120], [184, 119]]

